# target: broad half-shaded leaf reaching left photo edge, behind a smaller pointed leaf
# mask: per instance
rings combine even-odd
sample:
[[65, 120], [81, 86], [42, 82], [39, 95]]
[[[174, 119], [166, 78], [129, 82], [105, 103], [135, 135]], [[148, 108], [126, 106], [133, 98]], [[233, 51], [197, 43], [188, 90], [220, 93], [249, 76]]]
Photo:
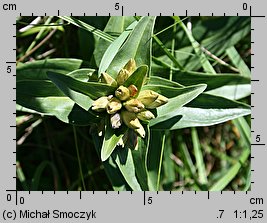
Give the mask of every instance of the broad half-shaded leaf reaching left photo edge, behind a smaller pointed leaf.
[[[96, 121], [95, 115], [76, 105], [46, 75], [47, 71], [67, 74], [72, 69], [79, 68], [81, 64], [81, 60], [50, 59], [19, 65], [16, 87], [17, 110], [54, 115], [63, 122], [77, 125], [88, 125]], [[87, 69], [84, 75], [78, 72], [74, 77], [85, 80], [85, 76], [88, 78], [91, 71], [93, 72]]]

